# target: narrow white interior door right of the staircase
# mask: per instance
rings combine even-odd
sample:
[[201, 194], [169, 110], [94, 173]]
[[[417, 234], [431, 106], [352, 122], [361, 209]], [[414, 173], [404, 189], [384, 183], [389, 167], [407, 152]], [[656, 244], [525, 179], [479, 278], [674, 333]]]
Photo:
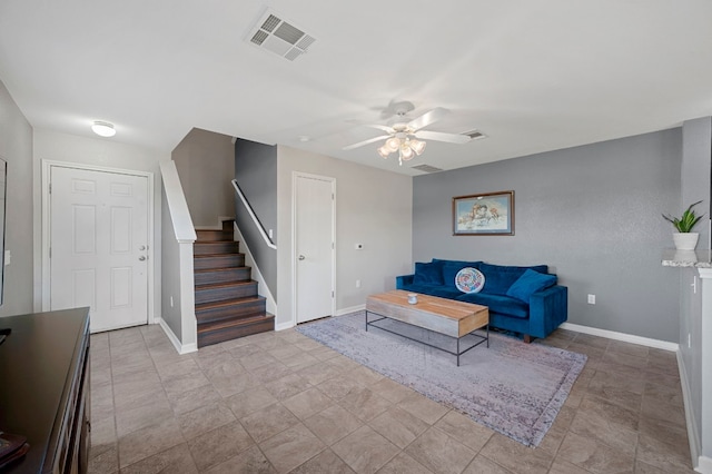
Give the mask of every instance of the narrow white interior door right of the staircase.
[[295, 176], [296, 319], [304, 323], [334, 312], [335, 180]]

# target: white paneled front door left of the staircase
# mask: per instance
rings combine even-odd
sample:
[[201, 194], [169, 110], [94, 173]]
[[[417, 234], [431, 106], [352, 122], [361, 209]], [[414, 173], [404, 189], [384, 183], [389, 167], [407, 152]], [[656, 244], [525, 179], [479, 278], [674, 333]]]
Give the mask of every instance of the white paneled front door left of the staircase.
[[148, 178], [50, 168], [50, 306], [91, 332], [148, 322]]

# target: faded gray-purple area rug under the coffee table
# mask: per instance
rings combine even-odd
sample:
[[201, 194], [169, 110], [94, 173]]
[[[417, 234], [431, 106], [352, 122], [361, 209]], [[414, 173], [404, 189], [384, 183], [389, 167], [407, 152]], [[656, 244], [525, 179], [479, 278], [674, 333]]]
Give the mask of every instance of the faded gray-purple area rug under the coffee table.
[[[377, 324], [455, 350], [453, 338], [392, 319]], [[583, 354], [491, 332], [490, 347], [482, 344], [465, 353], [457, 367], [451, 354], [373, 326], [366, 332], [364, 312], [297, 330], [526, 446], [542, 441], [586, 363]], [[461, 346], [473, 342], [474, 336], [466, 336]]]

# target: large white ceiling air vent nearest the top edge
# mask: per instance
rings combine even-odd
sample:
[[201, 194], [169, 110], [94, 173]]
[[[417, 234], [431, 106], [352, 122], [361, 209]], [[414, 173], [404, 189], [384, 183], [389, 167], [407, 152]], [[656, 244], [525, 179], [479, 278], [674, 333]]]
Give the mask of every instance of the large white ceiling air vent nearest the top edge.
[[314, 37], [270, 10], [265, 11], [257, 19], [246, 39], [254, 46], [279, 55], [289, 61], [306, 53], [307, 49], [316, 41]]

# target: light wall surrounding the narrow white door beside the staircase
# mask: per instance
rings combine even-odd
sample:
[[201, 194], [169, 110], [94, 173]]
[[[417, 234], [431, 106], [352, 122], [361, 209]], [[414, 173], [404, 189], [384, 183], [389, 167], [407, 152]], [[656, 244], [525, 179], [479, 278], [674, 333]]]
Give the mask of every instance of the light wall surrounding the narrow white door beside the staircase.
[[[279, 315], [295, 316], [295, 172], [336, 180], [336, 315], [363, 309], [368, 295], [394, 289], [412, 267], [413, 179], [352, 161], [279, 146]], [[373, 159], [383, 159], [377, 155]], [[357, 250], [356, 244], [363, 249]], [[360, 287], [356, 286], [360, 280]], [[298, 282], [297, 282], [298, 283]]]

